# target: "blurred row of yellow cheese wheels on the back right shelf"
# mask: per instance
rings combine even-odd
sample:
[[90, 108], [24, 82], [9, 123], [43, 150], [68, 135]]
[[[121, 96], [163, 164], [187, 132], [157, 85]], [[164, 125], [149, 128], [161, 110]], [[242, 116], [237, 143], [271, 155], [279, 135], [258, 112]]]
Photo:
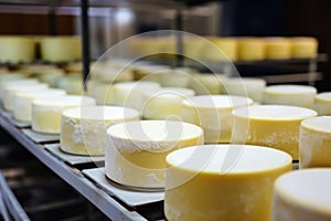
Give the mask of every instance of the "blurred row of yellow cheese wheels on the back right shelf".
[[[134, 38], [132, 54], [164, 57], [177, 53], [174, 36]], [[183, 55], [192, 60], [261, 61], [313, 59], [318, 54], [314, 38], [220, 38], [184, 35]]]

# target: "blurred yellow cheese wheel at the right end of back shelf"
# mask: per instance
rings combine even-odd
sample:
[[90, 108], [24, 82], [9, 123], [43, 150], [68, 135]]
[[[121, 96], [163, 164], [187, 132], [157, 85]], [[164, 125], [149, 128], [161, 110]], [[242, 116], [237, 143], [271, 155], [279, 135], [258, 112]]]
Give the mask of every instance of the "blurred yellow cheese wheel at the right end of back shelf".
[[292, 57], [313, 59], [318, 55], [318, 40], [316, 38], [291, 38]]

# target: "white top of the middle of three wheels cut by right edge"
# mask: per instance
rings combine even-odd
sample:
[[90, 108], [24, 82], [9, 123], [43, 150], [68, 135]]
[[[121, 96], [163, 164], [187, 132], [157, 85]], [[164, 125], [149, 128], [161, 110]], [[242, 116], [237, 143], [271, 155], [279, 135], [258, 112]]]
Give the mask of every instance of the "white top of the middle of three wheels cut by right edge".
[[331, 135], [331, 116], [320, 116], [301, 122], [303, 127]]

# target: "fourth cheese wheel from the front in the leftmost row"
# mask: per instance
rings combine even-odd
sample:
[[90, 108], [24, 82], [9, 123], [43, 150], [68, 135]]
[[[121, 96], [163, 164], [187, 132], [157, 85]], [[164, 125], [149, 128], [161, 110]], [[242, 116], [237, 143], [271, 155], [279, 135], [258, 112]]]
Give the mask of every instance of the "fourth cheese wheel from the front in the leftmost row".
[[60, 134], [64, 109], [95, 104], [94, 98], [78, 95], [35, 99], [32, 103], [32, 129], [38, 133]]

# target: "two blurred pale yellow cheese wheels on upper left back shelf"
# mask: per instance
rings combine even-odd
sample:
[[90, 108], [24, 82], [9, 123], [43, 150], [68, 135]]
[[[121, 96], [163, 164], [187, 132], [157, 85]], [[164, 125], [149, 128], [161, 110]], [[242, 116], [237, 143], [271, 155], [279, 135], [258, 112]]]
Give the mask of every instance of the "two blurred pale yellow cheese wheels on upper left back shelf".
[[72, 62], [82, 59], [81, 38], [61, 36], [0, 36], [1, 63]]

